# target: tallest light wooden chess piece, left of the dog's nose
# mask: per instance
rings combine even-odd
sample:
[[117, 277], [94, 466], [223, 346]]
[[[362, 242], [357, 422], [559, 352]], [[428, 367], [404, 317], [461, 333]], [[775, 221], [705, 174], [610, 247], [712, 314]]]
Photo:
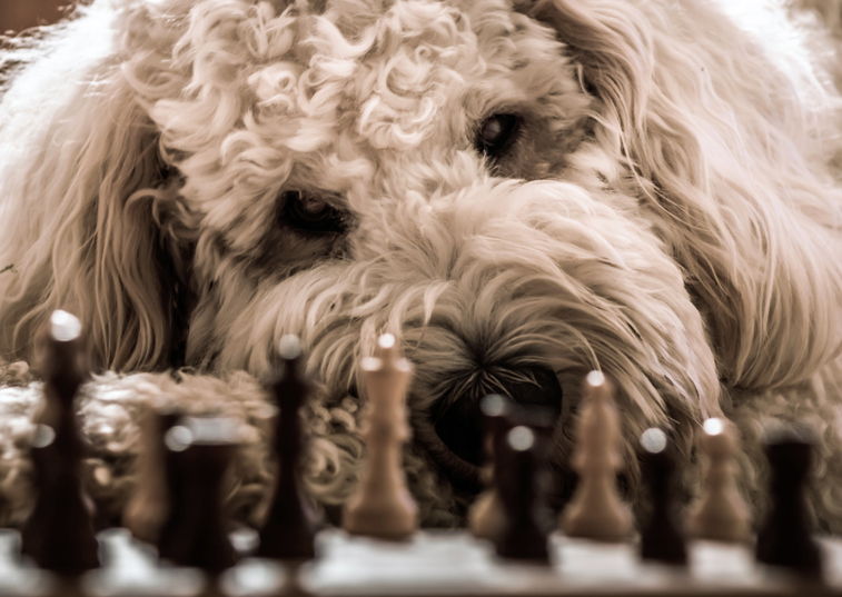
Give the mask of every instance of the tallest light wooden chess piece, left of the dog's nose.
[[409, 438], [406, 391], [412, 366], [398, 358], [395, 337], [380, 336], [374, 357], [360, 364], [368, 390], [363, 427], [367, 461], [343, 520], [354, 535], [405, 539], [418, 526], [418, 508], [406, 488], [402, 446]]

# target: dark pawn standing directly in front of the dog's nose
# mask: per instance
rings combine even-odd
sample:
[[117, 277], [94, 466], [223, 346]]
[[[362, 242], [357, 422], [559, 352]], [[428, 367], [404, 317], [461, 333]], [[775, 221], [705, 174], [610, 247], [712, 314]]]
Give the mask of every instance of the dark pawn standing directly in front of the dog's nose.
[[538, 441], [528, 427], [518, 425], [495, 446], [495, 485], [503, 506], [496, 537], [497, 555], [548, 564], [547, 529], [539, 489]]

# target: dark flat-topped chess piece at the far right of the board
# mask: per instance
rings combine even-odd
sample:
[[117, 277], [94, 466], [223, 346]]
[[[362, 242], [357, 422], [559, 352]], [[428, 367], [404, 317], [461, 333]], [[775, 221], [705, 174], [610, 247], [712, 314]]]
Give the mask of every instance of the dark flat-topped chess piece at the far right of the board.
[[757, 533], [757, 560], [819, 578], [822, 559], [811, 536], [804, 487], [812, 465], [806, 429], [781, 430], [766, 439], [772, 509]]

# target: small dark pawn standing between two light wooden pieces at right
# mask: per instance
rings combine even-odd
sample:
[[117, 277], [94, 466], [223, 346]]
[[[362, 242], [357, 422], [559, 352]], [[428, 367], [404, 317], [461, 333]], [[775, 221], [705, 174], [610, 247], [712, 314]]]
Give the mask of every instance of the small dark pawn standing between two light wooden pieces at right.
[[652, 506], [648, 520], [641, 526], [641, 557], [683, 566], [687, 563], [687, 553], [684, 536], [674, 519], [675, 458], [670, 441], [661, 429], [646, 429], [641, 435], [641, 469]]

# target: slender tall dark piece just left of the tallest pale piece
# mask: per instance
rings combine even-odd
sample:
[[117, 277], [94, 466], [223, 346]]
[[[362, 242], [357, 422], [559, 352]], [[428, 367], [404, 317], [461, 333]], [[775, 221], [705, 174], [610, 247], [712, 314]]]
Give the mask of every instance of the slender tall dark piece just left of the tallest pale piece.
[[278, 476], [269, 513], [260, 530], [257, 555], [274, 559], [313, 559], [316, 556], [314, 513], [301, 492], [300, 460], [305, 442], [301, 408], [310, 392], [304, 374], [301, 347], [295, 336], [280, 341], [280, 368], [269, 384], [280, 412], [273, 448]]

